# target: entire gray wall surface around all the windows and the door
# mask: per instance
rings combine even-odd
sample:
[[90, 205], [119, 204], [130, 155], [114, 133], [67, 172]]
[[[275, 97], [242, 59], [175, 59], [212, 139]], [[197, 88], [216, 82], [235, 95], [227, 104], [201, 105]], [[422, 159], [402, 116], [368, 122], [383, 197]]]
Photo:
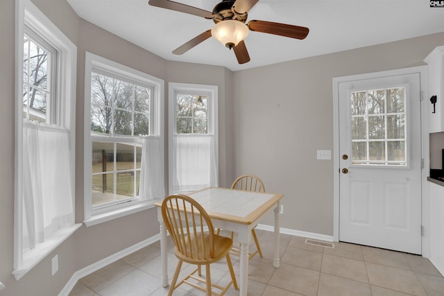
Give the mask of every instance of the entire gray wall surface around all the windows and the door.
[[[332, 235], [332, 161], [316, 160], [316, 149], [333, 148], [332, 78], [416, 66], [435, 46], [444, 44], [444, 34], [436, 34], [232, 73], [223, 67], [163, 60], [78, 18], [66, 1], [33, 2], [78, 46], [78, 223], [83, 220], [85, 51], [164, 79], [165, 98], [169, 81], [218, 85], [219, 184], [230, 186], [237, 175], [255, 173], [262, 177], [268, 191], [285, 194], [282, 227]], [[0, 1], [0, 281], [6, 285], [0, 295], [57, 295], [76, 270], [156, 234], [158, 224], [155, 209], [149, 209], [108, 223], [80, 227], [22, 279], [15, 281], [12, 277], [14, 6], [14, 0]], [[167, 107], [165, 102], [165, 122]], [[51, 277], [51, 258], [55, 254], [59, 256], [59, 271]]]

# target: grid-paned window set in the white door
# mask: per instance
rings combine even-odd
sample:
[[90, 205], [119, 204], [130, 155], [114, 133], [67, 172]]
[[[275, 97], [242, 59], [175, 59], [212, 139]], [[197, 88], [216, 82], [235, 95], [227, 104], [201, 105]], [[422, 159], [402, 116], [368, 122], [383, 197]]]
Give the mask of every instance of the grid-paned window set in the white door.
[[351, 92], [352, 164], [407, 166], [406, 89]]

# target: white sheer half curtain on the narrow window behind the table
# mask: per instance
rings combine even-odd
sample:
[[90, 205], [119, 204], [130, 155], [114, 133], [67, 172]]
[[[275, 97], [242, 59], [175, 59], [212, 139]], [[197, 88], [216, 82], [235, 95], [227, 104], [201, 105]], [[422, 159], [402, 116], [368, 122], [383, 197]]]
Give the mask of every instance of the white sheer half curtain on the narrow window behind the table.
[[217, 186], [217, 162], [212, 135], [173, 137], [173, 191]]

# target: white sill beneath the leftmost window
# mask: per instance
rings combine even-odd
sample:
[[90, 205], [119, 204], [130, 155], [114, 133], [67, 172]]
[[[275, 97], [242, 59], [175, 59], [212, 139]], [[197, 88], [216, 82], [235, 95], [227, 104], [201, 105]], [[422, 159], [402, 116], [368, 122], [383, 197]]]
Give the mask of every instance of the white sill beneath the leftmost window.
[[82, 226], [82, 224], [78, 223], [71, 227], [60, 229], [58, 232], [55, 232], [53, 236], [46, 238], [44, 243], [38, 244], [35, 249], [23, 254], [22, 265], [18, 266], [17, 269], [12, 271], [12, 275], [14, 275], [15, 280], [18, 281], [24, 275], [26, 275], [26, 272], [42, 261], [44, 257], [56, 249], [56, 247], [63, 243], [67, 238], [69, 238], [69, 236], [80, 228], [80, 226]]

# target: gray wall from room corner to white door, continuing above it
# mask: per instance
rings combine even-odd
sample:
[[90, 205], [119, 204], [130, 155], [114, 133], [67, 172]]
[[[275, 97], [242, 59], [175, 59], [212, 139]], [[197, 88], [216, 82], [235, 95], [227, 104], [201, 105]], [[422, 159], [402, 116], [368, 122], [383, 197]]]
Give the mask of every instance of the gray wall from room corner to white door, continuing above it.
[[[333, 235], [332, 78], [424, 64], [444, 33], [234, 72], [234, 174], [284, 193], [281, 227]], [[265, 223], [271, 224], [271, 217]]]

